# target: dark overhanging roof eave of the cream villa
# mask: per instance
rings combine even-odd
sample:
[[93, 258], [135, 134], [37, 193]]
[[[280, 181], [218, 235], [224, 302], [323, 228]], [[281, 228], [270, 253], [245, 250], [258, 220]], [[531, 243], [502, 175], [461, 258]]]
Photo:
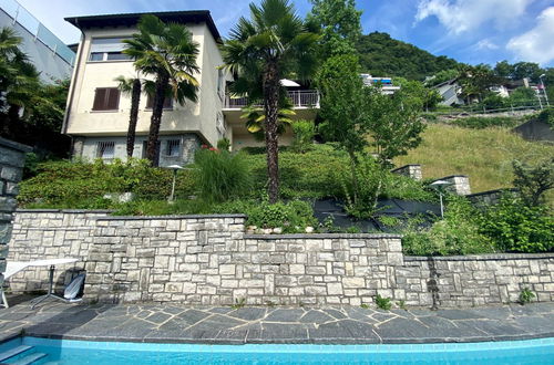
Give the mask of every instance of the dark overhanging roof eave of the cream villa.
[[164, 12], [136, 12], [120, 14], [103, 14], [88, 17], [68, 17], [65, 21], [79, 28], [80, 30], [102, 27], [132, 27], [138, 22], [142, 15], [153, 14], [164, 22], [178, 23], [201, 23], [205, 22], [216, 42], [222, 42], [219, 31], [215, 27], [209, 10], [188, 10], [188, 11], [164, 11]]

